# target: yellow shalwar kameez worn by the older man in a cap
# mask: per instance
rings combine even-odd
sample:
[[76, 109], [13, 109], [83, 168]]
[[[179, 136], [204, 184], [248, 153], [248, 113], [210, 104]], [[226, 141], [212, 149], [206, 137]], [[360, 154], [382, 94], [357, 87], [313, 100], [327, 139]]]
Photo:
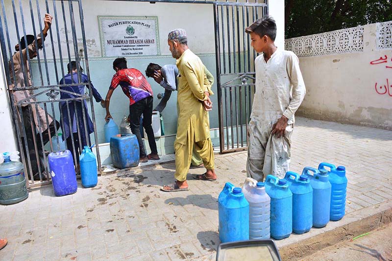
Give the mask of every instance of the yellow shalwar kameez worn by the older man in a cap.
[[210, 121], [202, 101], [207, 99], [204, 92], [210, 94], [211, 84], [204, 72], [200, 58], [191, 50], [186, 50], [177, 59], [178, 68], [178, 121], [177, 135], [174, 142], [175, 174], [178, 181], [185, 181], [195, 150], [207, 169], [214, 169], [214, 150], [210, 138]]

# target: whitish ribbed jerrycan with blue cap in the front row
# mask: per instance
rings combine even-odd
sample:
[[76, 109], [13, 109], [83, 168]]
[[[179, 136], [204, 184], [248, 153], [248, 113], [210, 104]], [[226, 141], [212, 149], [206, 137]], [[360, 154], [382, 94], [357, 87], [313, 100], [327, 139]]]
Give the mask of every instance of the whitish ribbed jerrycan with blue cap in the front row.
[[265, 183], [246, 178], [242, 191], [249, 203], [249, 239], [270, 239], [270, 196]]

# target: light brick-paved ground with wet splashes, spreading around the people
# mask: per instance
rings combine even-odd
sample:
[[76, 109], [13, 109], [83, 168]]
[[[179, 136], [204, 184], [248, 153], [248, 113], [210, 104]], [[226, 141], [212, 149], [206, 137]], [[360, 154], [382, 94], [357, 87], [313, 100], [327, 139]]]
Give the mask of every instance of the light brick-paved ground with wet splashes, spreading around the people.
[[[295, 172], [321, 161], [346, 166], [347, 212], [392, 200], [392, 131], [298, 118], [293, 144]], [[188, 175], [184, 192], [159, 191], [173, 163], [102, 176], [65, 197], [50, 186], [32, 191], [0, 206], [0, 236], [9, 239], [0, 260], [215, 260], [218, 195], [225, 182], [242, 185], [245, 161], [245, 152], [217, 156], [219, 180]]]

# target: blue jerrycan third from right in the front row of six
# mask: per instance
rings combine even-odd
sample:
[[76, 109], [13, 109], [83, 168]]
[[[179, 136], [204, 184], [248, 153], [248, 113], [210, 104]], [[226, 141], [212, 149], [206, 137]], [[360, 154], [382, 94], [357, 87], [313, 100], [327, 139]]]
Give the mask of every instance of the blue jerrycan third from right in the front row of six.
[[288, 171], [285, 179], [290, 181], [293, 193], [293, 232], [303, 234], [309, 232], [313, 225], [313, 189], [307, 175]]

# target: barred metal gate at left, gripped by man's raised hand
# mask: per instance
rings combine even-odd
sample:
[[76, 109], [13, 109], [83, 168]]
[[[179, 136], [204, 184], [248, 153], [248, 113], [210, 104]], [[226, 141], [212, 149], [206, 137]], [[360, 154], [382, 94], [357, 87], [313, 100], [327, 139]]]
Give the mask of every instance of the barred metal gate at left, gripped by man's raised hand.
[[[62, 133], [66, 131], [70, 133], [72, 148], [67, 143], [65, 148], [72, 152], [74, 159], [79, 157], [83, 145], [91, 145], [88, 133], [91, 123], [89, 123], [87, 101], [90, 102], [89, 114], [92, 116], [98, 171], [101, 171], [82, 1], [8, 0], [6, 3], [7, 5], [4, 4], [4, 0], [1, 0], [0, 44], [14, 130], [17, 134], [20, 156], [25, 165], [26, 177], [29, 180], [28, 186], [50, 182], [48, 154], [61, 149], [62, 140], [58, 136], [60, 129]], [[41, 47], [39, 38], [43, 36], [45, 29], [43, 21], [45, 13], [51, 14], [53, 20], [46, 41], [42, 41], [41, 38]], [[15, 31], [17, 39], [10, 39], [9, 32]], [[27, 42], [27, 31], [32, 31], [34, 34], [34, 41], [30, 45]], [[23, 44], [20, 41], [22, 36], [25, 39], [25, 46], [28, 47], [24, 50], [19, 48]], [[15, 44], [18, 44], [15, 46], [16, 52], [13, 51]], [[39, 50], [40, 48], [42, 51]], [[34, 52], [37, 59], [33, 59]], [[72, 80], [72, 83], [67, 84], [63, 81], [60, 84], [60, 79], [67, 75], [67, 63], [71, 61], [85, 67], [86, 74], [82, 75], [77, 66], [77, 82]], [[73, 79], [72, 74], [71, 79]], [[75, 90], [76, 86], [86, 86], [88, 92], [70, 91], [70, 88]], [[59, 108], [60, 104], [61, 108]], [[70, 107], [74, 108], [74, 112]], [[63, 120], [60, 121], [60, 118]], [[66, 121], [68, 119], [68, 127], [65, 126], [64, 119]], [[76, 124], [73, 125], [73, 122]], [[67, 128], [69, 130], [66, 130]], [[83, 144], [83, 140], [87, 144]], [[77, 167], [75, 162], [75, 168]], [[34, 173], [34, 170], [38, 172]]]

